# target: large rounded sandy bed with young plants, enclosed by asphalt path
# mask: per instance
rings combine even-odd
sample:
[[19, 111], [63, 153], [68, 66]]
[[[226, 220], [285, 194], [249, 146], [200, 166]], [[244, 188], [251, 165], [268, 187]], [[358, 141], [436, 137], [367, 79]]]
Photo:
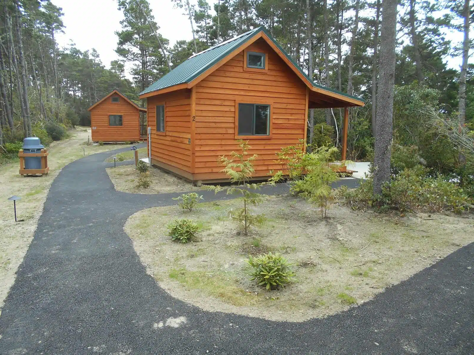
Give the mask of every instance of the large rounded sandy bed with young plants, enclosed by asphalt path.
[[[474, 216], [377, 214], [334, 205], [319, 210], [291, 196], [267, 197], [254, 210], [267, 221], [248, 236], [229, 220], [240, 200], [150, 208], [132, 215], [125, 231], [147, 271], [168, 293], [207, 311], [273, 320], [325, 317], [366, 302], [386, 287], [474, 241]], [[200, 240], [173, 242], [166, 225], [177, 218], [198, 222]], [[249, 254], [279, 252], [296, 280], [266, 291], [249, 281]]]

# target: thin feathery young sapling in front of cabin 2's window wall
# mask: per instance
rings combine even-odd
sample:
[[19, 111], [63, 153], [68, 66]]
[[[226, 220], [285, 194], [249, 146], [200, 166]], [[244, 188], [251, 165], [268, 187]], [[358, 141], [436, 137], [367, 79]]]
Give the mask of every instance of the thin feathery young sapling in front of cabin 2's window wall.
[[239, 140], [238, 143], [241, 149], [239, 152], [231, 151], [230, 158], [226, 156], [219, 157], [219, 161], [225, 166], [221, 172], [226, 173], [232, 183], [237, 183], [237, 187], [208, 186], [207, 188], [214, 190], [216, 193], [226, 190], [228, 195], [242, 195], [244, 206], [233, 211], [231, 217], [243, 227], [244, 234], [247, 235], [250, 226], [264, 222], [263, 214], [254, 215], [249, 210], [250, 205], [260, 204], [264, 196], [255, 192], [262, 184], [248, 183], [255, 172], [253, 161], [255, 161], [257, 155], [247, 157], [247, 151], [251, 148], [248, 141]]

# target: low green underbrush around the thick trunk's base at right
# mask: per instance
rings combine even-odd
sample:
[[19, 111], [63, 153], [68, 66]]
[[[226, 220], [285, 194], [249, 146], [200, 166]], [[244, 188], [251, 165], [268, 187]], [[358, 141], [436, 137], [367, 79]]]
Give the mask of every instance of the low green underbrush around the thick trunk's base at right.
[[428, 169], [417, 166], [403, 169], [383, 187], [383, 193], [373, 195], [372, 176], [361, 181], [357, 189], [341, 187], [337, 194], [354, 209], [376, 207], [380, 211], [396, 209], [405, 211], [461, 213], [473, 208], [473, 198], [456, 182], [442, 175], [431, 176]]

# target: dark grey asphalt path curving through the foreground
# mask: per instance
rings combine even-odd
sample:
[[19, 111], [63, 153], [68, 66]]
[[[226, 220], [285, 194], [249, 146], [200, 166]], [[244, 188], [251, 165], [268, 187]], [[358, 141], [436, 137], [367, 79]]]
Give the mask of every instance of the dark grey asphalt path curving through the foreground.
[[474, 243], [326, 319], [274, 322], [174, 299], [146, 274], [123, 225], [178, 194], [116, 192], [103, 162], [112, 153], [56, 177], [1, 313], [0, 354], [474, 353]]

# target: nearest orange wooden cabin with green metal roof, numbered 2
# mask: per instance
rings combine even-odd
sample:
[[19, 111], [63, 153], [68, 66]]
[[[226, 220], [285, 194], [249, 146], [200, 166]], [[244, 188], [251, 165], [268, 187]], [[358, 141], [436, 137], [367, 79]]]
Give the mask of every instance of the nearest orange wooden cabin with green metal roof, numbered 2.
[[228, 181], [219, 156], [239, 139], [258, 154], [253, 178], [268, 178], [275, 152], [306, 138], [309, 108], [364, 106], [313, 83], [263, 27], [191, 56], [140, 98], [152, 164], [198, 184]]

